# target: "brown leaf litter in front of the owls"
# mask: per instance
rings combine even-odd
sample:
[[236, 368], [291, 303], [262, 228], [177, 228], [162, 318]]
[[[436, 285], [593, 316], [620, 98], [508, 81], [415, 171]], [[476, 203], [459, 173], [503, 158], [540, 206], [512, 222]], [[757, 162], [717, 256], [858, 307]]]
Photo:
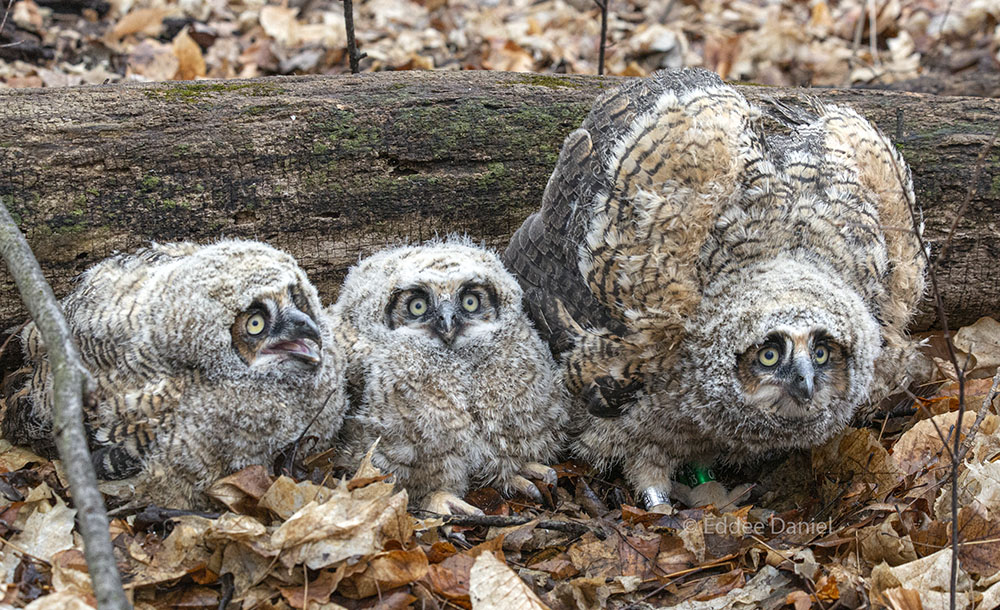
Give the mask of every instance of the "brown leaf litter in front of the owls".
[[[957, 522], [956, 607], [991, 610], [1000, 323], [955, 335], [967, 377], [957, 520], [959, 388], [942, 336], [925, 339], [934, 380], [915, 386], [925, 398], [897, 396], [871, 426], [721, 472], [728, 485], [754, 484], [735, 506], [647, 513], [619, 477], [570, 461], [555, 466], [555, 486], [536, 483], [542, 502], [470, 493], [487, 517], [447, 534], [370, 464], [338, 478], [319, 453], [222, 479], [210, 491], [217, 513], [113, 513], [119, 568], [137, 608], [930, 610], [948, 607]], [[59, 462], [0, 441], [0, 607], [94, 605], [74, 516]]]

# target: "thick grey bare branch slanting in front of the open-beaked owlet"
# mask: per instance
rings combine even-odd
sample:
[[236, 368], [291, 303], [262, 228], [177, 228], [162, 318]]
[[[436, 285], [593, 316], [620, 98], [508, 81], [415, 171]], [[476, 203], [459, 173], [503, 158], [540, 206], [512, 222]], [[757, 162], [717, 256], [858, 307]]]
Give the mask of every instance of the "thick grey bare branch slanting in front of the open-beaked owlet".
[[18, 230], [7, 207], [0, 204], [0, 254], [21, 293], [21, 300], [41, 332], [53, 376], [53, 424], [73, 504], [83, 536], [87, 569], [94, 595], [103, 609], [130, 608], [115, 565], [104, 499], [87, 449], [83, 428], [83, 393], [91, 383], [52, 288]]

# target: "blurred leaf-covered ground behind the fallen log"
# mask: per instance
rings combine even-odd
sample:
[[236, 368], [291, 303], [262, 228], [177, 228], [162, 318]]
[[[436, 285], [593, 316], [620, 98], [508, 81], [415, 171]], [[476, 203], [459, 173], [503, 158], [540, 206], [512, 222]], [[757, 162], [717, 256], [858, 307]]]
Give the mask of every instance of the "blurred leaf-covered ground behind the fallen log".
[[[1000, 91], [1000, 0], [609, 2], [608, 74], [702, 66], [766, 85]], [[0, 86], [348, 70], [336, 0], [4, 5]], [[355, 14], [365, 71], [598, 72], [594, 0], [367, 0]]]

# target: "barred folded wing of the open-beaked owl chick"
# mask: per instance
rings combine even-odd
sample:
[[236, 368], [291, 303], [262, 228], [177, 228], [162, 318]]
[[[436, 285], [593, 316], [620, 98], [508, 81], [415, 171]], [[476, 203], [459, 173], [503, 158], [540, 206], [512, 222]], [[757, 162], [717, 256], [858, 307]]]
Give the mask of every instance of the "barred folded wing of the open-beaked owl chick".
[[[160, 390], [147, 381], [162, 377], [150, 360], [141, 330], [130, 318], [126, 302], [135, 298], [125, 288], [142, 281], [157, 264], [188, 254], [192, 244], [170, 244], [118, 255], [91, 267], [77, 280], [78, 287], [61, 302], [84, 364], [97, 381], [97, 390], [84, 401], [85, 424], [94, 464], [102, 479], [121, 479], [138, 472], [152, 443], [152, 410], [164, 407]], [[25, 367], [16, 392], [5, 397], [2, 429], [11, 442], [55, 455], [52, 438], [52, 374], [41, 333], [32, 323], [21, 333]]]

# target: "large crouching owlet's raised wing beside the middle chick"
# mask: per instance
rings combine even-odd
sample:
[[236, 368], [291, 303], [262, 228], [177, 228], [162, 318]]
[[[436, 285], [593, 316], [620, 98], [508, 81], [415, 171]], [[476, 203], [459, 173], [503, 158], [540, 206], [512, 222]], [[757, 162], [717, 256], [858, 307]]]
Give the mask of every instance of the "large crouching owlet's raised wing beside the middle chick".
[[673, 362], [701, 247], [763, 161], [756, 119], [715, 74], [664, 72], [602, 96], [566, 139], [504, 262], [592, 413], [620, 413]]

